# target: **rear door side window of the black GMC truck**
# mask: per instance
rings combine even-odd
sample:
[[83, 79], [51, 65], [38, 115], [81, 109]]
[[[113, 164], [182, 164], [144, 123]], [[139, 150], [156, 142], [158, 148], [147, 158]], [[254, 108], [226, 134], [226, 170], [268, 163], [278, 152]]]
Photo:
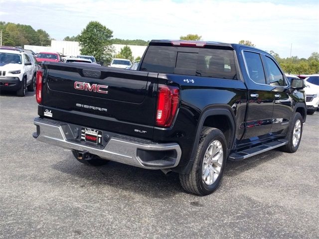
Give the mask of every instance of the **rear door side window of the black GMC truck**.
[[257, 84], [266, 84], [265, 71], [260, 54], [244, 51], [244, 58], [249, 78]]

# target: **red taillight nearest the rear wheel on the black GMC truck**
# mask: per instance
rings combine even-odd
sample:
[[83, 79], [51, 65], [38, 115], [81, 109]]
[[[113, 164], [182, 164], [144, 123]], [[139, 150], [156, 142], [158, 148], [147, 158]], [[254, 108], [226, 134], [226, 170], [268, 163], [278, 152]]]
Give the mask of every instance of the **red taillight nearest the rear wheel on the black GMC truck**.
[[179, 89], [173, 86], [159, 85], [156, 125], [170, 127], [179, 103]]

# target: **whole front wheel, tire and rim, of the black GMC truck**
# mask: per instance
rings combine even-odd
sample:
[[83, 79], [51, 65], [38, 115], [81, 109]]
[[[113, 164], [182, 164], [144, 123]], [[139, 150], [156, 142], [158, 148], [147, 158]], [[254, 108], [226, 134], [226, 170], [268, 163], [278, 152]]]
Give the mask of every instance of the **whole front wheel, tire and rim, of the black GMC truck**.
[[296, 113], [290, 131], [288, 132], [288, 143], [281, 149], [287, 153], [294, 153], [297, 151], [301, 136], [303, 134], [303, 118], [300, 113]]

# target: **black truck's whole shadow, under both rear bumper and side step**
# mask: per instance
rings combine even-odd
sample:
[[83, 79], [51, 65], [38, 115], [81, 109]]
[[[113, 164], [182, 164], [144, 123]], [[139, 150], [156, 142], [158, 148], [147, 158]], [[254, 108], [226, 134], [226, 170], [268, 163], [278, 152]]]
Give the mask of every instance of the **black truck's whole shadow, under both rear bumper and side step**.
[[[227, 181], [231, 181], [232, 177], [282, 154], [281, 151], [271, 150], [243, 161], [227, 161], [224, 177], [228, 177]], [[81, 164], [72, 156], [53, 164], [52, 168], [72, 177], [84, 179], [84, 181], [81, 180], [80, 187], [101, 187], [101, 191], [105, 193], [113, 192], [115, 189], [142, 194], [150, 198], [171, 198], [176, 194], [187, 194], [179, 184], [178, 174], [174, 172], [164, 175], [160, 170], [147, 170], [112, 161], [104, 166], [94, 167]]]

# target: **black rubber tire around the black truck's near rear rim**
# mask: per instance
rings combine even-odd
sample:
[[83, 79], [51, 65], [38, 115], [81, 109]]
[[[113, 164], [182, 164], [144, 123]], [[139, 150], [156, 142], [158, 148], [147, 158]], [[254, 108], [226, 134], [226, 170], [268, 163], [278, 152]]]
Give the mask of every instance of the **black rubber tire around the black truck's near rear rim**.
[[[204, 157], [206, 156], [206, 150], [208, 150], [210, 145], [216, 141], [219, 141], [221, 144], [223, 155], [220, 156], [219, 159], [222, 160], [222, 164], [221, 164], [221, 168], [219, 170], [219, 174], [217, 178], [214, 180], [212, 184], [207, 185], [205, 183], [205, 180], [203, 179], [204, 177], [203, 176], [204, 175], [203, 161], [204, 161]], [[214, 190], [216, 190], [225, 169], [226, 159], [227, 159], [226, 154], [227, 154], [226, 139], [222, 131], [220, 131], [217, 128], [203, 127], [201, 131], [201, 135], [200, 135], [200, 140], [198, 143], [198, 149], [195, 155], [195, 160], [190, 172], [188, 174], [179, 174], [179, 181], [183, 189], [185, 189], [189, 193], [193, 193], [197, 195], [208, 195], [208, 194], [211, 194]], [[206, 180], [207, 180], [207, 176], [206, 176]], [[214, 178], [214, 176], [212, 178]]]

